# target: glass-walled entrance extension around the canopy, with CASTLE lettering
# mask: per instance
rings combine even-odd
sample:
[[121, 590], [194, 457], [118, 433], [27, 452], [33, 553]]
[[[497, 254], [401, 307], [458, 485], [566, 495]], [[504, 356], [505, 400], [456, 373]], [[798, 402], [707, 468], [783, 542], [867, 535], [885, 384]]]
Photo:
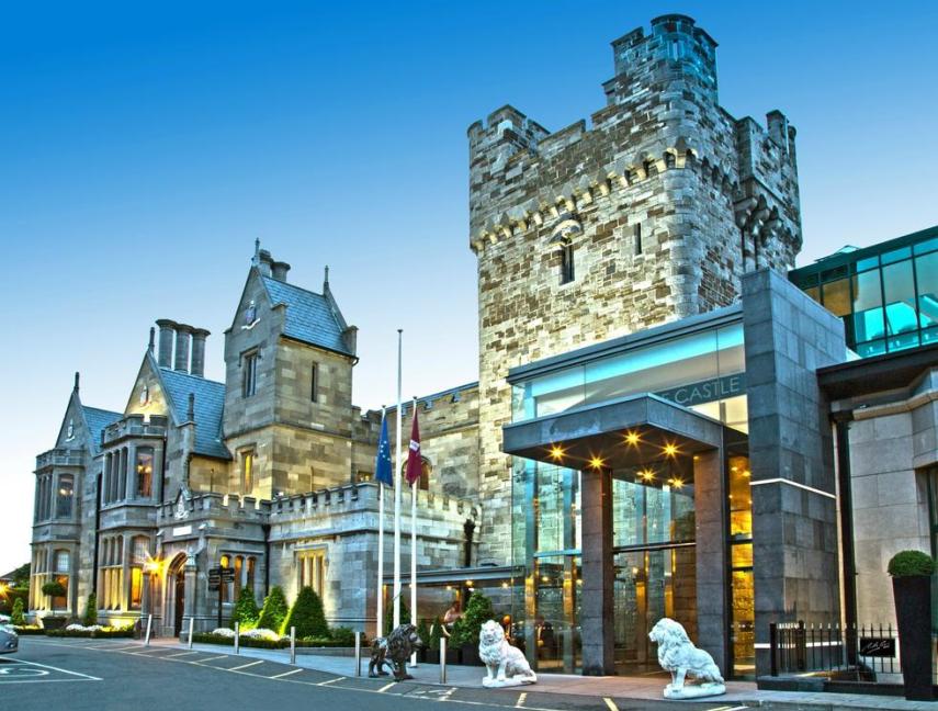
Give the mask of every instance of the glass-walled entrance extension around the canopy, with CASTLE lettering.
[[[651, 396], [701, 414], [722, 429], [720, 492], [725, 509], [725, 635], [735, 676], [754, 670], [751, 500], [743, 324], [724, 309], [679, 325], [513, 370], [512, 426]], [[606, 411], [606, 410], [604, 410]], [[545, 425], [545, 427], [547, 427]], [[613, 428], [614, 429], [614, 428]], [[698, 639], [697, 475], [699, 450], [660, 427], [604, 431], [545, 443], [512, 458], [512, 557], [525, 574], [513, 601], [516, 643], [542, 670], [583, 664], [584, 477], [611, 479], [614, 668], [658, 672], [647, 633], [663, 617]], [[509, 451], [506, 449], [506, 451]], [[521, 590], [521, 588], [519, 588]]]

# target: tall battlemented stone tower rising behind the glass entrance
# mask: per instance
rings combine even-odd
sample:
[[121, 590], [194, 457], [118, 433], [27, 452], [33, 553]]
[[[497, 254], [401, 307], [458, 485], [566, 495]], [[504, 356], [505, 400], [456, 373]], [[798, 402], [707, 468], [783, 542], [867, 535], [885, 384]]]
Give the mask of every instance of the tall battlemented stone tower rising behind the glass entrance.
[[510, 105], [468, 128], [482, 561], [510, 550], [509, 368], [727, 305], [743, 273], [801, 248], [794, 128], [720, 106], [713, 38], [670, 14], [612, 49], [591, 128], [550, 133]]

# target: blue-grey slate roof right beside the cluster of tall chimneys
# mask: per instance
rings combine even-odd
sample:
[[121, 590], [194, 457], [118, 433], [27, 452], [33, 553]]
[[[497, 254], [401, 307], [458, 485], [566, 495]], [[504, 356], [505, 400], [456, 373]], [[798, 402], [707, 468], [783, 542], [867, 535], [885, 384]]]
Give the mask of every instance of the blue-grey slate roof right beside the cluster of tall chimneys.
[[195, 453], [231, 459], [222, 443], [225, 384], [168, 368], [159, 369], [177, 422], [187, 421], [189, 394], [195, 394]]

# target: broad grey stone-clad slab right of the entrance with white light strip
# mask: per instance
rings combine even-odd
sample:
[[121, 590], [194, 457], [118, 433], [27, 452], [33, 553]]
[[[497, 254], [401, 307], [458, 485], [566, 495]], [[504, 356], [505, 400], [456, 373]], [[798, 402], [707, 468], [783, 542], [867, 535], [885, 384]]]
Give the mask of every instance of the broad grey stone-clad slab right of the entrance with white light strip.
[[756, 674], [769, 624], [840, 620], [837, 499], [828, 405], [816, 370], [846, 358], [844, 324], [783, 275], [743, 276]]

